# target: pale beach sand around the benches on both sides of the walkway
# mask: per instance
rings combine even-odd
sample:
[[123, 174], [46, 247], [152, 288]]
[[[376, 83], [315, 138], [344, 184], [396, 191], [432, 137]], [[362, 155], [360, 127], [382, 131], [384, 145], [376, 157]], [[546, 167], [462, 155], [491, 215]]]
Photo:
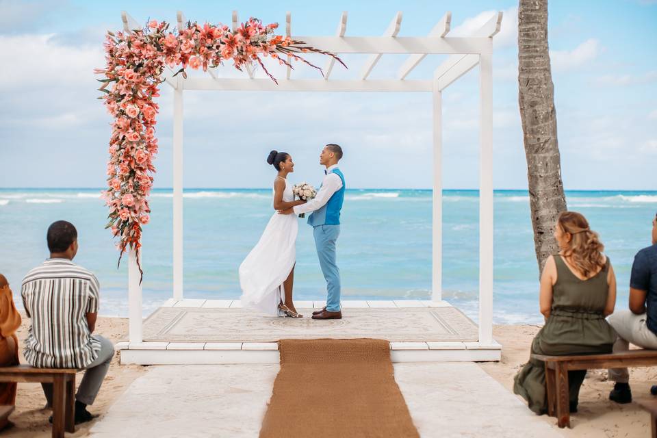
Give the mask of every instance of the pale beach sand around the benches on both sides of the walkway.
[[[23, 315], [24, 316], [24, 315]], [[18, 332], [22, 342], [27, 334], [27, 318]], [[97, 333], [118, 342], [125, 338], [128, 321], [125, 318], [99, 318]], [[509, 325], [495, 326], [494, 335], [503, 346], [500, 363], [480, 363], [480, 366], [496, 381], [509, 391], [513, 388], [513, 376], [525, 363], [529, 355], [529, 346], [538, 326]], [[21, 360], [24, 360], [21, 357]], [[247, 365], [245, 365], [247, 366]], [[103, 414], [114, 401], [147, 368], [140, 365], [119, 365], [118, 355], [112, 361], [105, 383], [96, 403], [90, 407], [92, 413]], [[657, 382], [655, 368], [636, 368], [630, 370], [632, 394], [635, 400], [650, 398], [650, 386]], [[78, 378], [79, 381], [79, 378]], [[606, 372], [597, 370], [589, 372], [580, 393], [579, 412], [572, 415], [571, 430], [564, 429], [568, 437], [643, 437], [649, 435], [649, 415], [638, 404], [618, 405], [607, 400], [612, 383], [606, 380]], [[48, 423], [50, 411], [43, 409], [45, 403], [41, 387], [33, 383], [19, 383], [16, 398], [16, 411], [11, 420], [16, 426], [3, 433], [6, 437], [50, 437]], [[411, 413], [412, 414], [412, 413]], [[543, 415], [541, 419], [554, 425], [554, 418]], [[94, 422], [77, 426], [71, 437], [88, 436]], [[556, 427], [556, 426], [555, 426]]]

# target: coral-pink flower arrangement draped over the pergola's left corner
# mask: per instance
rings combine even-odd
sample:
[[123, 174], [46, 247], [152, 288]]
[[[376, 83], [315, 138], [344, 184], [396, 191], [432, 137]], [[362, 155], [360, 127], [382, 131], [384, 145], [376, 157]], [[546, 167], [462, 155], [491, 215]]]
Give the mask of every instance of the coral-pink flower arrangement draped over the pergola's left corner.
[[[110, 137], [110, 160], [107, 164], [107, 190], [103, 192], [110, 209], [111, 229], [118, 237], [119, 262], [127, 248], [141, 246], [142, 225], [150, 220], [148, 197], [153, 187], [153, 158], [157, 154], [155, 117], [159, 107], [153, 99], [159, 96], [159, 83], [165, 66], [181, 66], [176, 75], [186, 77], [185, 68], [214, 68], [231, 60], [238, 70], [246, 64], [259, 64], [270, 56], [291, 68], [287, 57], [321, 69], [305, 60], [300, 53], [328, 55], [340, 64], [335, 54], [307, 46], [305, 42], [274, 35], [278, 24], [263, 25], [249, 18], [235, 29], [218, 24], [188, 22], [183, 29], [169, 31], [164, 21], [151, 20], [144, 29], [130, 34], [107, 32], [105, 68], [94, 73], [104, 75], [99, 88], [107, 112], [114, 118]], [[345, 66], [346, 67], [346, 66]], [[137, 253], [139, 255], [139, 252]], [[137, 259], [140, 266], [139, 257]], [[140, 267], [141, 270], [141, 267]], [[143, 272], [142, 272], [143, 276]]]

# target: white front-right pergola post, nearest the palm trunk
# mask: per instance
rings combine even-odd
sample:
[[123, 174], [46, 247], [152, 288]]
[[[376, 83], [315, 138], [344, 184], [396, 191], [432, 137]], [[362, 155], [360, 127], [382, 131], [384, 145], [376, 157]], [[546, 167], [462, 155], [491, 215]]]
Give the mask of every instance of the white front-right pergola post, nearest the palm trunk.
[[479, 55], [479, 344], [493, 343], [493, 38]]

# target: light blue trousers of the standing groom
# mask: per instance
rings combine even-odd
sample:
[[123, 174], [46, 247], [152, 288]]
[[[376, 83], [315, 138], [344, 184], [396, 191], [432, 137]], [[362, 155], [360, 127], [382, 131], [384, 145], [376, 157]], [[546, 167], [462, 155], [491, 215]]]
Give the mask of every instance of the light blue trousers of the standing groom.
[[335, 263], [335, 242], [340, 235], [340, 226], [318, 225], [313, 228], [313, 235], [328, 291], [326, 310], [337, 312], [340, 310], [340, 270]]

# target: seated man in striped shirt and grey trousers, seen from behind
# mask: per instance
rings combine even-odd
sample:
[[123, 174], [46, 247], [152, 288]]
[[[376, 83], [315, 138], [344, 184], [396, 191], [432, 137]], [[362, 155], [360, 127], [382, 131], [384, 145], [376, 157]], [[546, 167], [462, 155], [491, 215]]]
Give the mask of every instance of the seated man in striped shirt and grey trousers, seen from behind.
[[[112, 342], [92, 335], [99, 305], [98, 279], [73, 263], [77, 231], [73, 224], [58, 220], [47, 234], [50, 258], [29, 271], [21, 296], [31, 320], [23, 353], [39, 368], [86, 369], [75, 396], [75, 423], [92, 420], [87, 411], [93, 404], [114, 356]], [[53, 385], [42, 384], [52, 406]]]

